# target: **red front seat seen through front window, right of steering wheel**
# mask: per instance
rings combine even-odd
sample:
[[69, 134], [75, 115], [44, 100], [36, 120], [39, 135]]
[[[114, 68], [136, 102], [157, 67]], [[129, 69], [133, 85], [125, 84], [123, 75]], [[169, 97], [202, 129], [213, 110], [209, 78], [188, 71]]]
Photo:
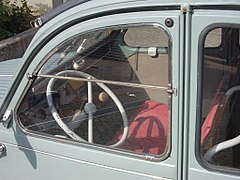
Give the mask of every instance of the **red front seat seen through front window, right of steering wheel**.
[[137, 113], [130, 119], [127, 140], [120, 148], [135, 152], [162, 154], [167, 144], [168, 106], [147, 100], [139, 106]]

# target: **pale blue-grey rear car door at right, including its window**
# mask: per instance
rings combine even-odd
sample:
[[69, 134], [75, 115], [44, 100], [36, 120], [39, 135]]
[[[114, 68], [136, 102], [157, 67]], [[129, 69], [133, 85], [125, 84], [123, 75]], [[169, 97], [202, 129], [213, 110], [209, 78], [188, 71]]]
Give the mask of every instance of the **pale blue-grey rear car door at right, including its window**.
[[192, 15], [189, 179], [240, 178], [238, 22], [231, 8]]

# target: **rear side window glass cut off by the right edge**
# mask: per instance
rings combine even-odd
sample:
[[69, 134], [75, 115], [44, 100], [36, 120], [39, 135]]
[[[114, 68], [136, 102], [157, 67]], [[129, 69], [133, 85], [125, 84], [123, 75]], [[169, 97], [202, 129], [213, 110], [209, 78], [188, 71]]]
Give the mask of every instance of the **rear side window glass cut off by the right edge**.
[[[206, 41], [218, 32], [221, 46], [209, 48]], [[240, 49], [239, 29], [210, 31], [203, 49], [200, 147], [204, 161], [240, 169]]]

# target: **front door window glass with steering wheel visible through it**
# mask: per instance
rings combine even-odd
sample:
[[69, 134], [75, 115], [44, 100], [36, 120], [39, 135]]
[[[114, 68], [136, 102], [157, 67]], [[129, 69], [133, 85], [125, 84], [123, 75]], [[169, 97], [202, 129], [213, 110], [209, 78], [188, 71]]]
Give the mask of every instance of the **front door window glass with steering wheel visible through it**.
[[[57, 46], [20, 105], [21, 125], [80, 143], [166, 153], [171, 113], [168, 36], [154, 26], [141, 26], [140, 35], [149, 29], [152, 36], [165, 39], [165, 47], [148, 38], [143, 42], [138, 26], [98, 29]], [[124, 43], [128, 31], [136, 33], [136, 47]]]

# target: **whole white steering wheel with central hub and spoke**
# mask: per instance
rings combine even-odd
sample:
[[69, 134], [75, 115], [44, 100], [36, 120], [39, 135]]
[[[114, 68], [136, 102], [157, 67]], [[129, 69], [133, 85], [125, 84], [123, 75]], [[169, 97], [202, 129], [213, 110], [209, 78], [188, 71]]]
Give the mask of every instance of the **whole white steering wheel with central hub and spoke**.
[[[76, 71], [76, 70], [64, 70], [56, 75], [71, 75], [71, 76], [80, 76], [84, 77], [87, 79], [96, 79], [95, 77], [81, 72], [81, 71]], [[53, 102], [53, 96], [52, 93], [54, 92], [53, 86], [55, 82], [57, 81], [56, 78], [51, 78], [50, 81], [48, 82], [47, 85], [47, 90], [46, 90], [46, 96], [47, 96], [47, 102], [48, 106], [50, 108], [50, 111], [52, 113], [53, 118], [55, 121], [58, 123], [58, 125], [62, 128], [62, 130], [72, 139], [77, 140], [77, 141], [83, 141], [87, 142], [85, 139], [81, 138], [79, 135], [77, 135], [75, 132], [73, 132], [61, 119], [59, 116], [57, 109], [55, 107], [55, 103]], [[126, 111], [124, 110], [121, 102], [119, 99], [116, 97], [116, 95], [110, 90], [105, 84], [103, 83], [96, 83], [99, 87], [101, 87], [110, 97], [111, 99], [115, 102], [116, 106], [118, 107], [118, 110], [121, 113], [122, 120], [123, 120], [123, 134], [122, 137], [118, 142], [115, 144], [109, 145], [109, 147], [117, 147], [121, 145], [127, 138], [128, 135], [128, 118]], [[84, 107], [85, 112], [88, 114], [88, 142], [92, 143], [93, 142], [93, 114], [96, 112], [96, 106], [92, 102], [92, 83], [88, 81], [88, 102], [85, 104]]]

